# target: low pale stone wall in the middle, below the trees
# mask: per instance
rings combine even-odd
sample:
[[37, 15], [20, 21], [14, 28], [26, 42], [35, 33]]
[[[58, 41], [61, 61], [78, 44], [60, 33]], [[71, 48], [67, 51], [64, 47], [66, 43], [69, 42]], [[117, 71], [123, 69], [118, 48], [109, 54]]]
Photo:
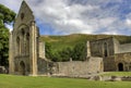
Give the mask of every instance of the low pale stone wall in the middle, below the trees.
[[91, 58], [88, 61], [57, 62], [53, 74], [62, 76], [86, 76], [103, 72], [103, 59]]

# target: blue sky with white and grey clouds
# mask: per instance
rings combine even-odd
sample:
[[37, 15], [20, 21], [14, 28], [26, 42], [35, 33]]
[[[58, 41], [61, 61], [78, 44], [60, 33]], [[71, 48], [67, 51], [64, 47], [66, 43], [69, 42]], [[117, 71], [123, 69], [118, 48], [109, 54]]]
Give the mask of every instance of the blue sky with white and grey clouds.
[[[131, 0], [25, 0], [41, 35], [131, 35]], [[0, 0], [19, 12], [22, 0]], [[11, 25], [8, 25], [12, 29]]]

